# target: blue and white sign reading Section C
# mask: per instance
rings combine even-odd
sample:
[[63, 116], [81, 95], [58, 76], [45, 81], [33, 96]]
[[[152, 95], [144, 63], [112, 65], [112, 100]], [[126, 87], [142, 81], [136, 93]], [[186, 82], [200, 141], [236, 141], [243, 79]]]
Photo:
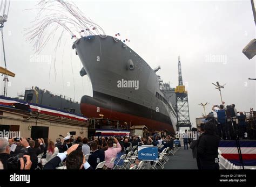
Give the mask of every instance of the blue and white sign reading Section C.
[[138, 159], [147, 161], [158, 160], [158, 147], [138, 146]]

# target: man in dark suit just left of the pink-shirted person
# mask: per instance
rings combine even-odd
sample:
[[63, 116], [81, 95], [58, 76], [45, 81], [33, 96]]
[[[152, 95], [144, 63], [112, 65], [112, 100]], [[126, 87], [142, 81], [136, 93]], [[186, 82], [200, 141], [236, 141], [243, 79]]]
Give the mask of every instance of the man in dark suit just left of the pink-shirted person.
[[105, 153], [103, 149], [98, 149], [98, 145], [95, 141], [91, 142], [91, 148], [93, 153], [89, 156], [88, 162], [93, 169], [96, 169], [98, 163], [105, 160]]

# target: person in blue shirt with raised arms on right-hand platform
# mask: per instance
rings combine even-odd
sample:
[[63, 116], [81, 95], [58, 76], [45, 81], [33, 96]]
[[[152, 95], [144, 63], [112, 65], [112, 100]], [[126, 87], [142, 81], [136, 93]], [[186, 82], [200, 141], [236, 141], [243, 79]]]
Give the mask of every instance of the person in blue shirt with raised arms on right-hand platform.
[[225, 113], [225, 102], [221, 104], [219, 107], [217, 105], [213, 105], [212, 110], [217, 113], [217, 133], [221, 139], [230, 140], [230, 132], [226, 122], [226, 113]]

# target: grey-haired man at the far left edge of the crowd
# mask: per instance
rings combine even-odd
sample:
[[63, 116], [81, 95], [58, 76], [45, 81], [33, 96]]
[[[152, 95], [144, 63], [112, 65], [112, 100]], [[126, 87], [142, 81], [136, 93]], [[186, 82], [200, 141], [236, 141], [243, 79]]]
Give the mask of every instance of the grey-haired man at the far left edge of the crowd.
[[0, 161], [2, 162], [4, 169], [8, 169], [7, 161], [10, 158], [10, 152], [8, 139], [0, 138]]

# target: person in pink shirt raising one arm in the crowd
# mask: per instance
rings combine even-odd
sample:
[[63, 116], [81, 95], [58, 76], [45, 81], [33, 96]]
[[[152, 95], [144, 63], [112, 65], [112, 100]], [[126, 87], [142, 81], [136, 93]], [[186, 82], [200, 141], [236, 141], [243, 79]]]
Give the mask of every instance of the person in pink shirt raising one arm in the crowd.
[[117, 157], [117, 154], [122, 150], [122, 147], [120, 146], [120, 143], [118, 142], [118, 140], [116, 138], [114, 138], [114, 142], [116, 143], [117, 147], [114, 148], [113, 147], [113, 140], [109, 140], [107, 141], [107, 150], [105, 151], [105, 168], [109, 168], [112, 169], [114, 164], [110, 163], [111, 159], [113, 159], [114, 157]]

